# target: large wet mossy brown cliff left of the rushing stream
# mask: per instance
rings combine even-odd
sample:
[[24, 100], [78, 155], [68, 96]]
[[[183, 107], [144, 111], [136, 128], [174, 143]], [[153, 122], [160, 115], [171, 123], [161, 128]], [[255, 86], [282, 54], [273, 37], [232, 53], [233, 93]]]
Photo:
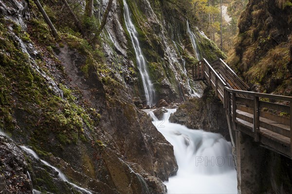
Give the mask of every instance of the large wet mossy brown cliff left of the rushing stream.
[[[113, 1], [94, 48], [76, 29], [63, 1], [40, 2], [61, 40], [54, 39], [33, 0], [0, 0], [0, 130], [12, 138], [1, 138], [0, 145], [17, 147], [16, 162], [23, 165], [16, 174], [26, 177], [23, 192], [80, 191], [58, 178], [54, 168], [21, 151], [20, 144], [92, 193], [165, 193], [163, 181], [177, 172], [177, 163], [172, 146], [133, 102], [138, 99], [136, 105], [141, 105], [145, 97], [123, 1]], [[68, 2], [81, 19], [84, 4]], [[196, 59], [179, 3], [127, 2], [156, 100], [181, 102], [198, 92], [201, 86], [189, 81], [184, 69]], [[85, 28], [96, 28], [107, 3], [94, 1], [95, 17], [82, 20]], [[201, 52], [208, 49], [204, 57], [224, 56], [194, 25], [191, 29]], [[6, 148], [0, 150], [1, 156], [5, 153]], [[1, 179], [5, 171], [0, 169]], [[9, 188], [9, 181], [0, 187]]]

